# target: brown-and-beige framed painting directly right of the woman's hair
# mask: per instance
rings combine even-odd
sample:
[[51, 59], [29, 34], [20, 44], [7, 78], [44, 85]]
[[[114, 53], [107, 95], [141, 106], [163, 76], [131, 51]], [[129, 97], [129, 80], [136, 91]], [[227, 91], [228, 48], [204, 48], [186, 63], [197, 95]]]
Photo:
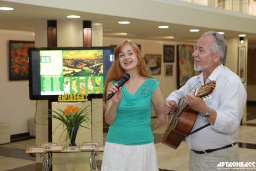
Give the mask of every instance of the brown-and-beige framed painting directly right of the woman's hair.
[[144, 61], [150, 75], [161, 74], [162, 55], [145, 55]]

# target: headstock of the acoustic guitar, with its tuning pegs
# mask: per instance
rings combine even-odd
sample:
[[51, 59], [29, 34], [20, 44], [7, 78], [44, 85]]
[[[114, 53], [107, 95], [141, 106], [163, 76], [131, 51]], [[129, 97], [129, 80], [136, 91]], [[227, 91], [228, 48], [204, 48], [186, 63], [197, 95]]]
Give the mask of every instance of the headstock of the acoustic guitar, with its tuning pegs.
[[[208, 96], [208, 98], [209, 98], [210, 97], [209, 95], [212, 94], [215, 86], [216, 86], [216, 82], [215, 81], [210, 81], [207, 84], [197, 88], [196, 92], [195, 92], [195, 96], [196, 97], [201, 97], [201, 98], [204, 98], [204, 97]], [[204, 98], [204, 99], [207, 99], [207, 98]]]

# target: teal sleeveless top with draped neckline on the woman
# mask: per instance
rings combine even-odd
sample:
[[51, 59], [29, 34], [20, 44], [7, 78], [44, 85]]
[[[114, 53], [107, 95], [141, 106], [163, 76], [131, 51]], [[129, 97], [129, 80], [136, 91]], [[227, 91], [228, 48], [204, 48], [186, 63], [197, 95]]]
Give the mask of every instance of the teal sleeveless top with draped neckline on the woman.
[[154, 141], [151, 131], [151, 99], [158, 85], [159, 82], [154, 78], [147, 78], [135, 94], [130, 94], [122, 86], [123, 97], [117, 108], [117, 116], [109, 127], [107, 142], [139, 145]]

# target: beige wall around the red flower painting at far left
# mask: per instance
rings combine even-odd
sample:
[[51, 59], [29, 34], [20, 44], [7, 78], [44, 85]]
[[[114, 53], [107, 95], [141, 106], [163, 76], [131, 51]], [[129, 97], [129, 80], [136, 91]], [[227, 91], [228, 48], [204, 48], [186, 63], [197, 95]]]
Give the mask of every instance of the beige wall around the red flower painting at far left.
[[32, 32], [0, 30], [0, 122], [9, 122], [11, 135], [28, 132], [28, 118], [35, 115], [36, 101], [28, 97], [28, 80], [9, 81], [9, 40], [34, 40]]

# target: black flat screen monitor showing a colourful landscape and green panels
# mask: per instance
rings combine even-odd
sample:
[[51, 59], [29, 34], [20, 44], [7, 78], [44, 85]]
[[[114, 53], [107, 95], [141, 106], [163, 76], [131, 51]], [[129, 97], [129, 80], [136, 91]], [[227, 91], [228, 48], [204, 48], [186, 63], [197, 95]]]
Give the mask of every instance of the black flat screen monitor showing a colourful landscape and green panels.
[[30, 99], [64, 94], [101, 98], [114, 59], [113, 47], [29, 48]]

